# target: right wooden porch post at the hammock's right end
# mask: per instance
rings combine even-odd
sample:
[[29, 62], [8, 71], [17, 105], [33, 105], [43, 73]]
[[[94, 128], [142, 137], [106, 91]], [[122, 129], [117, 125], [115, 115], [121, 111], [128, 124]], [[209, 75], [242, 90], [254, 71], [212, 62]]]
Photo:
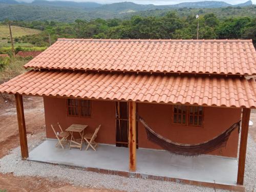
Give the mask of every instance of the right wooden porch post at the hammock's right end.
[[241, 127], [242, 130], [241, 130], [239, 162], [238, 162], [238, 180], [237, 180], [237, 184], [239, 185], [244, 184], [244, 168], [245, 168], [246, 146], [247, 146], [250, 112], [251, 112], [250, 109], [243, 108], [242, 127]]

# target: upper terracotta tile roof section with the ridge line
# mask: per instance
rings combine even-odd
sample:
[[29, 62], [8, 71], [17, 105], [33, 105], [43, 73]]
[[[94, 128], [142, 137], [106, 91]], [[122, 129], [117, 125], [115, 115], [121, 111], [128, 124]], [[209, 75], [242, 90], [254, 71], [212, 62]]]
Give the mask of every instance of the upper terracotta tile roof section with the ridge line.
[[256, 74], [251, 40], [58, 39], [25, 67]]

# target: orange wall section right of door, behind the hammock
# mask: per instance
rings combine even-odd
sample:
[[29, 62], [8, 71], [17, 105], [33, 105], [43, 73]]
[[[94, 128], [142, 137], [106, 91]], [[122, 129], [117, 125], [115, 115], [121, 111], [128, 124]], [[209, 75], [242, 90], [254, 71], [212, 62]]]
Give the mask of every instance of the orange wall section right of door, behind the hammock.
[[[172, 124], [171, 105], [139, 103], [137, 111], [142, 118], [160, 135], [179, 143], [201, 143], [212, 139], [238, 122], [241, 118], [240, 109], [204, 108], [204, 125], [183, 126]], [[138, 124], [139, 147], [160, 148], [155, 143], [147, 140], [146, 132], [141, 123]], [[233, 131], [228, 139], [226, 147], [211, 152], [212, 155], [237, 157], [238, 131]]]

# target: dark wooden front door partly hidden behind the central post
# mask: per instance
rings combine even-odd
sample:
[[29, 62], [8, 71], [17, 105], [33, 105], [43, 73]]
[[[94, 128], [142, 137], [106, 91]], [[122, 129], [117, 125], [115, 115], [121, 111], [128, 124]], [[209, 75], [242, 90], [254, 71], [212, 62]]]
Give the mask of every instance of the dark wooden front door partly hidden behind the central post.
[[[137, 131], [137, 148], [138, 148], [138, 129]], [[129, 141], [129, 108], [128, 102], [116, 102], [116, 146], [128, 147]]]

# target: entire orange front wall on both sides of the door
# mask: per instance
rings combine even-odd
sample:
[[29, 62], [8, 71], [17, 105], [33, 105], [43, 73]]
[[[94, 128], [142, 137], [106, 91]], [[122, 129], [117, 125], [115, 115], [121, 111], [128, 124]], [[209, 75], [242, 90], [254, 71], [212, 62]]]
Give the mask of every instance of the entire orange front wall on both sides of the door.
[[[102, 124], [97, 141], [100, 143], [115, 144], [116, 125], [114, 101], [92, 100], [92, 117], [90, 118], [68, 117], [66, 99], [44, 97], [44, 104], [47, 138], [55, 138], [50, 124], [57, 127], [57, 122], [59, 122], [64, 129], [76, 123], [88, 124], [88, 130], [94, 130], [97, 125]], [[152, 129], [162, 136], [180, 143], [191, 144], [209, 140], [219, 135], [241, 118], [240, 109], [205, 107], [203, 127], [182, 126], [172, 124], [171, 112], [172, 105], [151, 103], [137, 104], [137, 113], [145, 119]], [[232, 132], [226, 147], [219, 148], [210, 154], [237, 157], [238, 138], [238, 132]], [[161, 148], [157, 144], [147, 140], [145, 129], [141, 123], [138, 123], [138, 142], [139, 147]]]

